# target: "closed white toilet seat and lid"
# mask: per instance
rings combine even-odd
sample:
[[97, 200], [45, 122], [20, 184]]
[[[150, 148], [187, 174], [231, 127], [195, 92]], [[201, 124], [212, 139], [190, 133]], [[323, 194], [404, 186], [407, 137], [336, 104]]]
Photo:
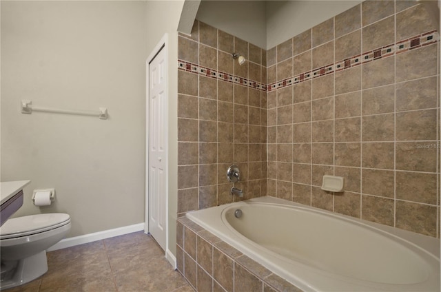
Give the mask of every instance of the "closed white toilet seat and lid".
[[48, 213], [11, 218], [0, 227], [0, 240], [31, 236], [70, 223], [65, 213]]

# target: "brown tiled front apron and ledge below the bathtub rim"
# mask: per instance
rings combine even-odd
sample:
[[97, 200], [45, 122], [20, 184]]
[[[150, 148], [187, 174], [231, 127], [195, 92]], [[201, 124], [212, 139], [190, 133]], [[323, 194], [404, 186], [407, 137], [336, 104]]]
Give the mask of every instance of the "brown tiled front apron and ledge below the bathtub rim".
[[188, 218], [178, 218], [176, 260], [196, 291], [301, 291]]

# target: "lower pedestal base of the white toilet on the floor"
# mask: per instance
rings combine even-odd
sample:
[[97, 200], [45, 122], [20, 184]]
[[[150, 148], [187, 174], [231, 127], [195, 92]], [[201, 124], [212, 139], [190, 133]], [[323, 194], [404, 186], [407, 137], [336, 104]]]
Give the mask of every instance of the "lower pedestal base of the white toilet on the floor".
[[39, 278], [48, 271], [46, 251], [22, 260], [1, 262], [0, 290], [20, 286]]

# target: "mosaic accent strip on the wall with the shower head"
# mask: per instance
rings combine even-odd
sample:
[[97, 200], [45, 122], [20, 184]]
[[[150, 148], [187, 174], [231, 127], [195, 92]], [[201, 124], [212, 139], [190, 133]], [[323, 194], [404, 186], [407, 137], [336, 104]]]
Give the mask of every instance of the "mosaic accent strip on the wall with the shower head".
[[220, 72], [217, 70], [213, 70], [213, 69], [210, 69], [207, 67], [203, 67], [201, 65], [196, 65], [196, 64], [193, 64], [193, 63], [190, 63], [187, 61], [179, 60], [179, 59], [178, 59], [178, 69], [186, 71], [186, 72], [196, 73], [201, 76], [207, 76], [207, 77], [212, 77], [214, 79], [219, 79], [222, 81], [236, 83], [239, 85], [247, 86], [249, 88], [254, 88], [256, 90], [261, 90], [264, 92], [267, 91], [267, 85], [265, 83], [260, 83], [260, 82], [252, 81], [249, 79], [245, 79], [243, 77], [234, 76], [232, 74]]

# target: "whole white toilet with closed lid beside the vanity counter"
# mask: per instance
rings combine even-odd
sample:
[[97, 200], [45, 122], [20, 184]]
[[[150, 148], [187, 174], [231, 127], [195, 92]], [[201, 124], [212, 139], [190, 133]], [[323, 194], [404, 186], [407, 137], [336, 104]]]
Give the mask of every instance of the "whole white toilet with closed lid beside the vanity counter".
[[70, 216], [48, 213], [11, 218], [0, 227], [0, 289], [19, 286], [48, 271], [46, 249], [70, 231]]

